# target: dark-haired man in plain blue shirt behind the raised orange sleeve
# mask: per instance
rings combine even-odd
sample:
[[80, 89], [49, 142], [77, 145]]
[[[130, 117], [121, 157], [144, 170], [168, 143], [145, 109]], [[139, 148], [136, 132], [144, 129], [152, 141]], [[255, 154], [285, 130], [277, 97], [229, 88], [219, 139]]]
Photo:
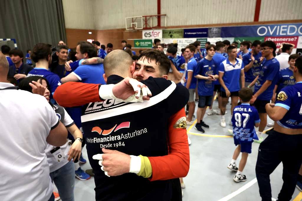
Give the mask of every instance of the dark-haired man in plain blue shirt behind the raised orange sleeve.
[[[77, 59], [87, 59], [97, 56], [95, 47], [87, 41], [79, 42], [78, 46], [76, 47], [76, 52]], [[85, 60], [82, 61], [82, 64], [85, 64]], [[102, 76], [103, 74], [103, 64], [80, 65], [75, 71], [66, 77], [63, 77], [61, 82], [66, 83], [69, 81], [81, 81], [83, 83], [105, 84], [106, 82]]]

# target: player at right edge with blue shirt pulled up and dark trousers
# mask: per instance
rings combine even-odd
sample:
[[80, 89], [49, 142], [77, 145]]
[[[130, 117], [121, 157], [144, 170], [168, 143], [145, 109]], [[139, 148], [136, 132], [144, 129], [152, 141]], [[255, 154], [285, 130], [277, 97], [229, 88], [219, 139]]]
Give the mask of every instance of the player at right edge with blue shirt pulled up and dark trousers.
[[260, 144], [256, 177], [262, 200], [271, 199], [269, 175], [282, 162], [283, 185], [278, 200], [291, 200], [302, 163], [302, 57], [296, 59], [293, 76], [296, 84], [284, 87], [275, 104], [266, 104], [275, 121], [274, 132]]

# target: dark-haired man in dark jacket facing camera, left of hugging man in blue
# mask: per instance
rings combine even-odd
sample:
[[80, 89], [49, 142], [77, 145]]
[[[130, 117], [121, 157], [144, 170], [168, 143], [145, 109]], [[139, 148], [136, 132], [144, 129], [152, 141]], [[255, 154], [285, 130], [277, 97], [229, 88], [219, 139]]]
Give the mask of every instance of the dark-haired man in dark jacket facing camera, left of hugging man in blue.
[[58, 63], [54, 63], [50, 70], [51, 72], [57, 74], [60, 79], [66, 76], [65, 63], [68, 57], [68, 47], [61, 45], [56, 49], [56, 55], [58, 57]]

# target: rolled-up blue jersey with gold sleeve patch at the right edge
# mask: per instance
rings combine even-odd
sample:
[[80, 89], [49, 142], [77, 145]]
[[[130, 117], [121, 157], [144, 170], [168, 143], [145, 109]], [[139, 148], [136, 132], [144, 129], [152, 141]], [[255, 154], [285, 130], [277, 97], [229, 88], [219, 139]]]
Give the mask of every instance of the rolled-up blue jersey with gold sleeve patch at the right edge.
[[284, 128], [302, 128], [302, 82], [284, 87], [278, 93], [275, 106], [288, 110], [277, 124]]

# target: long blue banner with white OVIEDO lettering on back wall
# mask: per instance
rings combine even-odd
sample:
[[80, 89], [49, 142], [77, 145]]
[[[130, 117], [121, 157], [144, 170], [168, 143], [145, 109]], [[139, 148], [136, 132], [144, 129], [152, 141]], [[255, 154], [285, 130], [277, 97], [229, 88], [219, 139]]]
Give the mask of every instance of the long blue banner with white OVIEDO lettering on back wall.
[[[302, 36], [302, 23], [221, 27], [221, 37]], [[210, 37], [210, 36], [209, 36]]]

